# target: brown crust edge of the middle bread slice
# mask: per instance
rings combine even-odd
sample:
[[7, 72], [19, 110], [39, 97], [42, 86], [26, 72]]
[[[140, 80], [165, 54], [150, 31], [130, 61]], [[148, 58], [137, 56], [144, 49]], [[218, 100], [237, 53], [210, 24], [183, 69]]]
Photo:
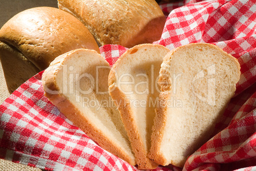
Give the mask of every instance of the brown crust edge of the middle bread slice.
[[[150, 45], [160, 46], [159, 44]], [[137, 46], [134, 46], [134, 48], [143, 48], [143, 46], [148, 46], [148, 44], [139, 44]], [[132, 53], [132, 50], [134, 50], [134, 48], [125, 51], [125, 53], [120, 58], [118, 58], [115, 65], [113, 65], [108, 77], [109, 92], [112, 99], [114, 99], [114, 101], [116, 102], [118, 110], [120, 111], [121, 118], [125, 126], [125, 130], [131, 141], [132, 150], [134, 151], [138, 168], [153, 169], [156, 168], [158, 164], [150, 160], [150, 158], [148, 158], [148, 152], [146, 151], [145, 146], [143, 144], [143, 140], [139, 135], [138, 127], [134, 121], [134, 118], [132, 118], [133, 114], [131, 111], [131, 104], [129, 103], [129, 100], [125, 99], [125, 94], [122, 93], [118, 86], [115, 85], [115, 71], [117, 69], [118, 63], [122, 60], [122, 58], [125, 57], [126, 54]]]

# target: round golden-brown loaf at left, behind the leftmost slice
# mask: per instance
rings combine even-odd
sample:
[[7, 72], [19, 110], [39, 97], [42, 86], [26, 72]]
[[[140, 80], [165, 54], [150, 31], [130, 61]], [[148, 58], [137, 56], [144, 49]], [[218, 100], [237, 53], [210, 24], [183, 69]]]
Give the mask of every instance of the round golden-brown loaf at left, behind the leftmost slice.
[[77, 48], [99, 52], [92, 34], [73, 15], [51, 7], [18, 13], [0, 30], [0, 58], [8, 90], [13, 92], [55, 57]]

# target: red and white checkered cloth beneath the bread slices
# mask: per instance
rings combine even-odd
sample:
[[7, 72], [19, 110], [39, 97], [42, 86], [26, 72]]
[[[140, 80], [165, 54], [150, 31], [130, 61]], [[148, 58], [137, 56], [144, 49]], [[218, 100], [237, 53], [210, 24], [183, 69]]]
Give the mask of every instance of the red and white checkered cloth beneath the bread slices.
[[[256, 170], [256, 1], [184, 1], [161, 4], [162, 38], [169, 49], [206, 42], [238, 58], [241, 79], [215, 136], [192, 154], [183, 170]], [[127, 48], [101, 47], [113, 65]], [[43, 95], [41, 74], [0, 106], [0, 158], [45, 170], [137, 170], [97, 146]], [[156, 170], [181, 170], [158, 167]]]

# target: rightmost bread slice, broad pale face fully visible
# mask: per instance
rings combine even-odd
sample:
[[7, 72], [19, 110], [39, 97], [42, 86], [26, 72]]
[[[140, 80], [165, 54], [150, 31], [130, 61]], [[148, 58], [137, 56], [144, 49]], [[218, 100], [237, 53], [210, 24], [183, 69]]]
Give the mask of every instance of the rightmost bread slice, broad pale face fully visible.
[[210, 139], [234, 95], [239, 69], [236, 58], [213, 44], [187, 44], [164, 57], [149, 154], [152, 160], [183, 167], [188, 156]]

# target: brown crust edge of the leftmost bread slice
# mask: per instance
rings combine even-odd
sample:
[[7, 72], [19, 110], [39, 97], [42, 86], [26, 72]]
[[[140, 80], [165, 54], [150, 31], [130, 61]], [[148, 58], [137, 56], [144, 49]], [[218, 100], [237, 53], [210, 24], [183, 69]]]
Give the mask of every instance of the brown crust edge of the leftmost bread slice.
[[[45, 96], [52, 102], [52, 104], [57, 106], [59, 111], [63, 113], [70, 121], [72, 121], [80, 129], [82, 129], [83, 132], [87, 133], [89, 137], [95, 140], [99, 144], [99, 146], [103, 147], [103, 149], [106, 149], [106, 151], [109, 151], [115, 156], [122, 158], [122, 160], [127, 161], [131, 165], [136, 165], [134, 158], [131, 158], [131, 156], [122, 151], [122, 149], [118, 147], [113, 140], [106, 137], [106, 135], [104, 135], [104, 133], [101, 132], [101, 130], [99, 130], [99, 128], [97, 128], [96, 125], [92, 123], [92, 121], [88, 120], [83, 116], [81, 111], [77, 109], [65, 95], [60, 93], [60, 88], [57, 86], [56, 83], [57, 71], [60, 69], [61, 65], [65, 62], [66, 58], [68, 58], [70, 54], [80, 50], [82, 49], [73, 50], [65, 53], [64, 55], [60, 55], [58, 58], [55, 58], [50, 67], [45, 70], [42, 76]], [[92, 51], [92, 53], [97, 53], [94, 50], [90, 51]], [[48, 93], [49, 90], [53, 93]]]

